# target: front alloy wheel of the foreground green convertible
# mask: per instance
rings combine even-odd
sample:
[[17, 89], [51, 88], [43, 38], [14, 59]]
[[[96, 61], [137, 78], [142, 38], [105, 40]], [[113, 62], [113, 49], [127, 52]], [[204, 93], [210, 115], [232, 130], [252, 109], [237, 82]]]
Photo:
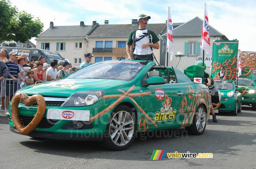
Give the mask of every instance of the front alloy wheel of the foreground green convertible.
[[117, 106], [109, 117], [101, 144], [114, 151], [127, 149], [135, 139], [136, 126], [136, 117], [132, 110], [125, 105]]

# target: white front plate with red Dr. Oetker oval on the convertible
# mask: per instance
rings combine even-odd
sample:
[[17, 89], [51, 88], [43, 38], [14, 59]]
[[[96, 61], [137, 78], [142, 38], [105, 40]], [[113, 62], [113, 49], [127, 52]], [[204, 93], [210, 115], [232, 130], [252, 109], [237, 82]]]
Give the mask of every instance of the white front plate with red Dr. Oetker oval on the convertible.
[[47, 119], [89, 121], [90, 110], [48, 109]]

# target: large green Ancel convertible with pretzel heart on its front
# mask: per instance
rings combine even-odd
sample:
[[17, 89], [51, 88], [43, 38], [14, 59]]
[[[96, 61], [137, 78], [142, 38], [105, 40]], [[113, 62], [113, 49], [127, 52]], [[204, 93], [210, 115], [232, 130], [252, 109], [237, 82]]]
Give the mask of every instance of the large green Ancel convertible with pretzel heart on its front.
[[103, 61], [17, 91], [9, 125], [30, 137], [98, 140], [108, 149], [124, 150], [136, 132], [185, 127], [203, 134], [210, 97], [208, 87], [176, 68]]

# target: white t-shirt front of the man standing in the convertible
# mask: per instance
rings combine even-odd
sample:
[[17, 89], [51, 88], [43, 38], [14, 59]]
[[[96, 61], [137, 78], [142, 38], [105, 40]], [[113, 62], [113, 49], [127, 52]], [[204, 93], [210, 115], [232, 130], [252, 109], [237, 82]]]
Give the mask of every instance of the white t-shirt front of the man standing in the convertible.
[[[140, 39], [141, 37], [140, 36], [143, 36], [145, 34], [143, 33], [148, 33], [148, 30], [147, 29], [144, 29], [144, 30], [137, 30], [136, 31], [136, 38], [137, 39]], [[151, 36], [151, 35], [150, 35]], [[151, 39], [152, 39], [152, 36], [151, 36]], [[152, 53], [152, 49], [150, 46], [148, 46], [146, 49], [142, 49], [141, 46], [144, 44], [144, 43], [149, 43], [149, 39], [148, 39], [148, 36], [140, 39], [139, 41], [136, 42], [135, 46], [135, 50], [134, 50], [134, 54], [137, 54], [137, 55], [145, 55], [145, 54], [151, 54]]]

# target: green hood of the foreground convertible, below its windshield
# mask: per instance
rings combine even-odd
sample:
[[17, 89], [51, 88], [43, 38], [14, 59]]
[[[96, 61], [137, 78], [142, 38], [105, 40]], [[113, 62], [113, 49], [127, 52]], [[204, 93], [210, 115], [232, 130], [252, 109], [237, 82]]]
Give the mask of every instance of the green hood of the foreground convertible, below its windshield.
[[20, 90], [27, 95], [43, 95], [69, 97], [70, 95], [84, 90], [108, 89], [129, 81], [109, 80], [109, 79], [61, 79], [57, 81], [40, 83]]

